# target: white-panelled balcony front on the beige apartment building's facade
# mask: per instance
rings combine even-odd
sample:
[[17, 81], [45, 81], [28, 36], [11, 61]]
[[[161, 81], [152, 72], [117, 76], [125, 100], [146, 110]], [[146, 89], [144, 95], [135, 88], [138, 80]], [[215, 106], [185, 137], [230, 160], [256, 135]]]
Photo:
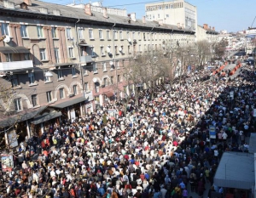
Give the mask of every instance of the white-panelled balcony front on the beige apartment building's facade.
[[24, 70], [32, 67], [33, 67], [32, 60], [0, 63], [0, 71], [15, 71], [15, 70], [22, 70], [22, 69]]

